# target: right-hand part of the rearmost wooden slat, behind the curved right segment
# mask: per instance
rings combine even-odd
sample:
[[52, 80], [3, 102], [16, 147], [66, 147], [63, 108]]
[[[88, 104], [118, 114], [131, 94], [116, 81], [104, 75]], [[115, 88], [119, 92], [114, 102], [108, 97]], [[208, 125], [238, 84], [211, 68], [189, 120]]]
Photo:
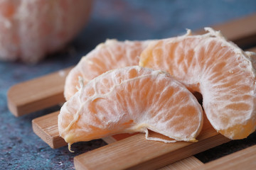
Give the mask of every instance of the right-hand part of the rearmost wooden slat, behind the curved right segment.
[[[242, 48], [256, 43], [256, 13], [212, 26], [212, 28], [220, 30], [225, 38]], [[204, 30], [199, 30], [196, 33], [202, 34], [204, 32]]]

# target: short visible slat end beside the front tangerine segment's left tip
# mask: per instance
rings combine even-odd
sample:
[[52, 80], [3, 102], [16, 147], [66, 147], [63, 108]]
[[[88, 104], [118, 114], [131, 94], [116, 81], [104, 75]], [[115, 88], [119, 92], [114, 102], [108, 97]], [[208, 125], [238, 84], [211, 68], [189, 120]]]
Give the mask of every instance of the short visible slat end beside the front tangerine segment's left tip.
[[56, 111], [32, 120], [33, 132], [53, 149], [67, 145], [58, 132], [59, 113]]

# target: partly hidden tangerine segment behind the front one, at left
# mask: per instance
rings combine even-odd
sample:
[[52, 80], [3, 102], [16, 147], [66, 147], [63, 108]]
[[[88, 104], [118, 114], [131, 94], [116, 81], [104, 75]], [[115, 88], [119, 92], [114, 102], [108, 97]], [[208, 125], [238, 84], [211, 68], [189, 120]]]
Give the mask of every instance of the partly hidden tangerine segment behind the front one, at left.
[[151, 42], [145, 41], [124, 41], [107, 40], [105, 43], [97, 45], [95, 50], [82, 57], [80, 62], [70, 71], [65, 80], [64, 96], [68, 99], [78, 90], [78, 77], [84, 79], [87, 84], [91, 79], [100, 74], [127, 66], [138, 65], [139, 55], [142, 50]]

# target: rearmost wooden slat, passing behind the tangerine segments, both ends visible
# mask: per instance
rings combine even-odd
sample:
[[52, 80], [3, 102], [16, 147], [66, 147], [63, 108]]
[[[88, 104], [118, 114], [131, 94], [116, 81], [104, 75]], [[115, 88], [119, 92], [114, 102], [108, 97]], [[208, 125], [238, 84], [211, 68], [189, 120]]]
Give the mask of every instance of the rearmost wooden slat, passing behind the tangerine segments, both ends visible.
[[[254, 21], [256, 21], [256, 13], [213, 26], [213, 28], [221, 30], [228, 40], [232, 40], [240, 47], [245, 47], [256, 43], [256, 22]], [[196, 33], [203, 33], [203, 31]], [[60, 72], [12, 86], [7, 95], [11, 113], [16, 116], [25, 115], [65, 101], [63, 98], [63, 86], [65, 75], [69, 70], [64, 69]], [[63, 73], [64, 76], [61, 76]]]

